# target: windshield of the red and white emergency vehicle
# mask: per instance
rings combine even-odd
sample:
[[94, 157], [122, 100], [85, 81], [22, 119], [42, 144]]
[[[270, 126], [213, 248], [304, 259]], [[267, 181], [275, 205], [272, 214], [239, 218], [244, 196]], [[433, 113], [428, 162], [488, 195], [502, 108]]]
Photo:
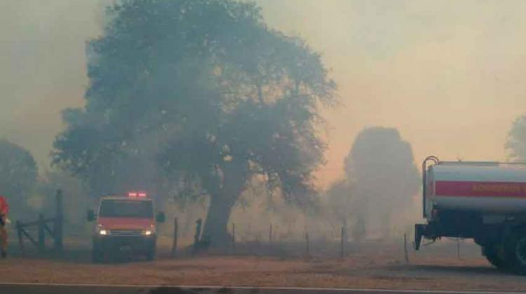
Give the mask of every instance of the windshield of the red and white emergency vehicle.
[[151, 218], [154, 209], [151, 201], [103, 200], [99, 216], [111, 218]]

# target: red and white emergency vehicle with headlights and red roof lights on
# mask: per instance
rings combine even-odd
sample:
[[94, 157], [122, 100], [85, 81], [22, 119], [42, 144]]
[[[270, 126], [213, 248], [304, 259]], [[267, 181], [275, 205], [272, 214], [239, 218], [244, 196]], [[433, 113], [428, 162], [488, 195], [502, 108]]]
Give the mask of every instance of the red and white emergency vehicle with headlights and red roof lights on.
[[155, 215], [154, 200], [146, 193], [102, 197], [97, 213], [88, 211], [88, 221], [95, 221], [93, 262], [116, 255], [154, 260], [157, 223], [162, 223], [164, 218], [162, 212]]

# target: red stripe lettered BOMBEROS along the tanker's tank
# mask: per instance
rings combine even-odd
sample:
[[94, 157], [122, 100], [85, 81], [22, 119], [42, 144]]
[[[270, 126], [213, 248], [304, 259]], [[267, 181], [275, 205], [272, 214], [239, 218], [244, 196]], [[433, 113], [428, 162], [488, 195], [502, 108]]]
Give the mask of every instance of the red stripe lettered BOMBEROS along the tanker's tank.
[[435, 195], [473, 197], [526, 197], [526, 183], [436, 181]]

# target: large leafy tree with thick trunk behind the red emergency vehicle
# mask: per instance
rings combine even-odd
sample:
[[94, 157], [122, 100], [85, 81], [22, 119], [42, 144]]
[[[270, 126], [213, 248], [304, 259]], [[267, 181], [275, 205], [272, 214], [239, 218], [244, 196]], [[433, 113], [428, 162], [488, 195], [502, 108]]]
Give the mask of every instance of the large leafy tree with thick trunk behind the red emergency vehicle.
[[126, 0], [106, 19], [88, 44], [86, 106], [65, 111], [55, 165], [97, 193], [133, 183], [207, 195], [203, 236], [218, 245], [254, 180], [311, 203], [318, 108], [335, 101], [320, 55], [267, 27], [251, 2]]

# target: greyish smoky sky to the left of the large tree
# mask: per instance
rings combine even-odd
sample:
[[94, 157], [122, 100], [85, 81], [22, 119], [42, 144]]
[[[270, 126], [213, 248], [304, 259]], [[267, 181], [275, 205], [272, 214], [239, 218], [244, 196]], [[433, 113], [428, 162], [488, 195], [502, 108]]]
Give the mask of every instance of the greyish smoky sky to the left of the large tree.
[[0, 10], [0, 137], [48, 163], [60, 111], [81, 105], [85, 43], [100, 32], [103, 0], [4, 1]]

